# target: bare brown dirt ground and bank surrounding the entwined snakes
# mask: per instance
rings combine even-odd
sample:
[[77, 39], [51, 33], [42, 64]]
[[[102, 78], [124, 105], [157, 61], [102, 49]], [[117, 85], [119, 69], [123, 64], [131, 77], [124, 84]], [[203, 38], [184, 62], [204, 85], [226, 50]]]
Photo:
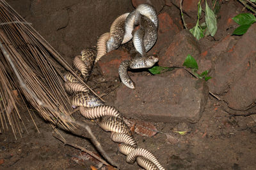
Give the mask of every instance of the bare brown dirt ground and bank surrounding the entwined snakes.
[[[96, 44], [97, 37], [108, 31], [109, 25], [116, 16], [134, 9], [130, 1], [122, 1], [122, 3], [108, 1], [109, 4], [97, 1], [99, 6], [95, 1], [79, 0], [72, 3], [61, 0], [51, 3], [40, 0], [8, 2], [22, 17], [31, 22], [70, 64], [72, 57], [81, 49]], [[105, 9], [114, 4], [116, 10]], [[86, 18], [96, 15], [93, 9], [99, 10], [104, 5], [105, 8], [98, 17], [86, 21]], [[92, 27], [84, 26], [88, 24]], [[88, 84], [93, 85], [95, 91], [101, 94], [110, 92], [103, 99], [113, 103], [115, 87], [120, 80], [100, 82], [102, 76], [97, 69], [95, 67]], [[256, 124], [253, 118], [250, 115], [232, 115], [223, 110], [222, 106], [221, 101], [209, 95], [199, 122], [195, 124], [154, 122], [161, 133], [157, 133], [152, 138], [134, 134], [134, 138], [138, 146], [154, 153], [166, 169], [255, 169]], [[22, 137], [18, 136], [17, 139], [14, 138], [11, 129], [0, 134], [0, 169], [90, 169], [92, 165], [100, 167], [100, 163], [96, 160], [86, 160], [85, 153], [63, 145], [54, 138], [52, 127], [35, 114], [33, 117], [40, 131], [38, 133], [25, 106], [20, 110], [24, 110], [20, 116], [24, 120], [26, 129], [22, 128], [20, 132]], [[104, 132], [97, 124], [85, 120], [78, 112], [73, 115], [74, 118], [90, 124], [102, 147], [114, 161], [120, 164], [120, 169], [140, 169], [136, 163], [125, 162], [125, 156], [118, 152], [118, 144], [111, 141], [109, 132]], [[188, 134], [180, 135], [174, 131], [188, 131]], [[95, 152], [90, 141], [65, 132], [61, 134], [68, 141]], [[104, 166], [100, 169], [104, 169]]]

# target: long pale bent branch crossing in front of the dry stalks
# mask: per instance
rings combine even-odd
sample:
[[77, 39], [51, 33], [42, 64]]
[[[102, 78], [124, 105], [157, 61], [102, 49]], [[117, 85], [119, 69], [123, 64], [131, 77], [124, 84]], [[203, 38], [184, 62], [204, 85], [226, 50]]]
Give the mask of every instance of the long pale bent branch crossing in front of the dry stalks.
[[[73, 120], [70, 116], [67, 116], [63, 113], [60, 113], [57, 110], [54, 110], [51, 108], [51, 106], [49, 106], [46, 103], [43, 103], [40, 99], [38, 99], [38, 97], [35, 95], [34, 92], [32, 92], [31, 90], [28, 89], [28, 87], [26, 86], [26, 84], [24, 83], [24, 81], [22, 80], [22, 78], [20, 77], [19, 72], [17, 71], [16, 67], [14, 66], [12, 59], [10, 59], [10, 55], [6, 52], [6, 50], [4, 49], [2, 43], [0, 43], [0, 48], [4, 54], [4, 57], [6, 57], [6, 59], [8, 60], [8, 62], [10, 63], [10, 66], [12, 67], [15, 75], [17, 76], [18, 80], [19, 80], [19, 84], [20, 87], [22, 87], [24, 90], [26, 90], [26, 92], [28, 92], [28, 94], [36, 101], [36, 103], [38, 103], [39, 106], [42, 106], [44, 108], [47, 108], [48, 110], [52, 111], [52, 113], [55, 113], [57, 115], [58, 118], [61, 118], [61, 120], [65, 120], [67, 122], [69, 122], [70, 124], [76, 124], [79, 127], [83, 127], [84, 129], [86, 129], [86, 131], [88, 132], [88, 134], [90, 135], [90, 138], [93, 145], [95, 145], [95, 147], [97, 148], [97, 150], [102, 154], [102, 156], [113, 166], [117, 166], [116, 162], [114, 162], [112, 159], [110, 159], [110, 157], [108, 157], [107, 153], [103, 150], [102, 146], [100, 145], [99, 141], [97, 141], [97, 139], [95, 138], [94, 134], [92, 133], [92, 130], [90, 129], [90, 127], [86, 124], [77, 122], [75, 120]], [[71, 130], [70, 130], [71, 131]], [[73, 134], [77, 134], [79, 136], [83, 136], [82, 132], [79, 131], [72, 131]], [[84, 136], [83, 136], [84, 137]], [[88, 137], [85, 137], [88, 138]]]

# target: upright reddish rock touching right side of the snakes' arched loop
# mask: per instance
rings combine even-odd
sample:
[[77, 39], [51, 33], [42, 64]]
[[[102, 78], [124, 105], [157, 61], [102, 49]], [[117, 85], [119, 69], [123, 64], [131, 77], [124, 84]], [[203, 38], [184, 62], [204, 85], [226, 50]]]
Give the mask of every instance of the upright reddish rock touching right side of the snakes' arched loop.
[[163, 12], [158, 15], [159, 28], [157, 32], [156, 45], [150, 50], [150, 53], [159, 53], [165, 51], [168, 45], [172, 42], [172, 38], [175, 34], [180, 32], [179, 27], [173, 23], [172, 18], [168, 13]]

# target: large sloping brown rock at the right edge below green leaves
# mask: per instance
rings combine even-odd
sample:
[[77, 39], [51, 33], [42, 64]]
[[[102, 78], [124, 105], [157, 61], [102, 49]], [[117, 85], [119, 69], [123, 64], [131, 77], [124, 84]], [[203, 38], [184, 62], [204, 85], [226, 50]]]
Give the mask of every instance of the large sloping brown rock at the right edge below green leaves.
[[[211, 92], [219, 95], [227, 93], [230, 87], [234, 86], [234, 83], [248, 72], [250, 62], [255, 60], [256, 43], [252, 43], [255, 39], [256, 24], [253, 24], [233, 48], [212, 59], [212, 72], [210, 74], [212, 79], [209, 80]], [[251, 78], [251, 81], [254, 78], [255, 76]], [[251, 89], [246, 88], [245, 90]]]

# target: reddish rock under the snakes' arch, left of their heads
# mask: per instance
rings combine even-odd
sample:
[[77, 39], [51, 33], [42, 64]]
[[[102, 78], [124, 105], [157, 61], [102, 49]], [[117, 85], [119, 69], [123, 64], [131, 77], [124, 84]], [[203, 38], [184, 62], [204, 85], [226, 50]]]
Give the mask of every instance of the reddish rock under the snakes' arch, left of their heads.
[[97, 62], [97, 65], [100, 67], [100, 73], [102, 73], [103, 76], [118, 77], [118, 67], [123, 60], [130, 60], [129, 52], [113, 50], [102, 56]]

